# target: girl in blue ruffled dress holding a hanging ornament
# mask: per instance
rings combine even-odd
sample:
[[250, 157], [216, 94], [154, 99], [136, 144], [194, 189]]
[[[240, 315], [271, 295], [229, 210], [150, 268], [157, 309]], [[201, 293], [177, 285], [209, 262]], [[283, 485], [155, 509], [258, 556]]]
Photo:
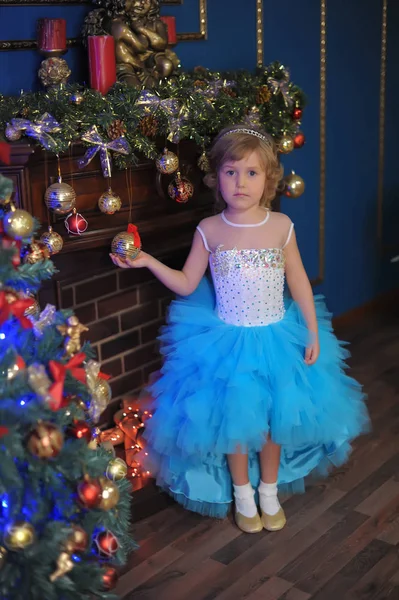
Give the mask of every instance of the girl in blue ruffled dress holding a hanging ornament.
[[[318, 298], [315, 308], [293, 223], [269, 210], [282, 176], [272, 138], [246, 125], [225, 129], [210, 163], [207, 183], [225, 208], [199, 224], [182, 271], [144, 252], [111, 257], [147, 267], [180, 296], [150, 387], [146, 453], [158, 485], [213, 517], [227, 514], [234, 491], [242, 531], [275, 531], [286, 522], [277, 484], [301, 492], [306, 475], [343, 463], [368, 416], [343, 371], [349, 353]], [[208, 263], [213, 286], [203, 278]]]

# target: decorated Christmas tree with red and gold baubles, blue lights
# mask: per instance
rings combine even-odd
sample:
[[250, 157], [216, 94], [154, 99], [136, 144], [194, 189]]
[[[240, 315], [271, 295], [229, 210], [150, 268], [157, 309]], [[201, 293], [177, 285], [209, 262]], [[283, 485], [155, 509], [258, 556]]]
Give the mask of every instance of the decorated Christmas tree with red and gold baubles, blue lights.
[[134, 543], [126, 464], [95, 439], [109, 384], [78, 319], [40, 312], [54, 266], [11, 191], [0, 175], [0, 598], [115, 598]]

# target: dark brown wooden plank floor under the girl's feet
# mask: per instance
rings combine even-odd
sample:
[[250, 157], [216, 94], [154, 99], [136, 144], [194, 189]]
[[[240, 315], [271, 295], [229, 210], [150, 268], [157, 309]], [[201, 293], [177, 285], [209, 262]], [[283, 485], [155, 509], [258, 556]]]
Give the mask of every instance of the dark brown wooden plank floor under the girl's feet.
[[123, 600], [399, 600], [399, 315], [339, 336], [369, 394], [373, 432], [351, 460], [284, 502], [276, 533], [241, 533], [172, 505], [134, 525]]

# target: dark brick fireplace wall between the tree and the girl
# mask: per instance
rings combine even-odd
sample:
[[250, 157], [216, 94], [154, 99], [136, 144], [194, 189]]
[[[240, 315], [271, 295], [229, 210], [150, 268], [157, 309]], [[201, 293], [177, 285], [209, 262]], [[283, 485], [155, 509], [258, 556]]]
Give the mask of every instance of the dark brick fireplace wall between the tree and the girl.
[[[185, 253], [166, 260], [181, 268]], [[112, 267], [111, 267], [112, 269]], [[138, 393], [160, 367], [156, 337], [173, 294], [147, 269], [117, 269], [80, 281], [59, 282], [62, 308], [73, 308], [89, 327], [102, 371], [112, 376], [109, 420], [123, 395]], [[103, 419], [104, 420], [104, 419]]]

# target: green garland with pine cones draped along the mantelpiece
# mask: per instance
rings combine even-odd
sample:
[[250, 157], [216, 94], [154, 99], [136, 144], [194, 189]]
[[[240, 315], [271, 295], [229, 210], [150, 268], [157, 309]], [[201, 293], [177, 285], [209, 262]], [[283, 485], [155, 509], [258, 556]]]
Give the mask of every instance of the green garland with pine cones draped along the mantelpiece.
[[[161, 81], [152, 92], [161, 100], [177, 100], [179, 113], [175, 123], [177, 120], [179, 139], [193, 140], [201, 148], [206, 148], [223, 127], [251, 118], [257, 118], [276, 140], [284, 134], [293, 136], [300, 125], [293, 111], [305, 105], [304, 93], [278, 62], [256, 73], [218, 73], [198, 67]], [[80, 104], [74, 102], [77, 93], [83, 96]], [[106, 96], [79, 85], [0, 96], [0, 135], [5, 136], [12, 119], [35, 122], [49, 113], [60, 124], [60, 131], [51, 133], [51, 150], [58, 154], [66, 152], [71, 143], [79, 142], [93, 125], [104, 141], [109, 141], [109, 127], [119, 120], [132, 152], [127, 156], [115, 153], [113, 158], [119, 168], [126, 168], [135, 164], [139, 155], [155, 158], [159, 154], [159, 139], [166, 139], [171, 131], [167, 110], [162, 105], [144, 109], [137, 103], [140, 93], [141, 90], [116, 83]], [[140, 127], [149, 114], [156, 120], [156, 136], [146, 135]], [[41, 145], [40, 138], [35, 141]]]

